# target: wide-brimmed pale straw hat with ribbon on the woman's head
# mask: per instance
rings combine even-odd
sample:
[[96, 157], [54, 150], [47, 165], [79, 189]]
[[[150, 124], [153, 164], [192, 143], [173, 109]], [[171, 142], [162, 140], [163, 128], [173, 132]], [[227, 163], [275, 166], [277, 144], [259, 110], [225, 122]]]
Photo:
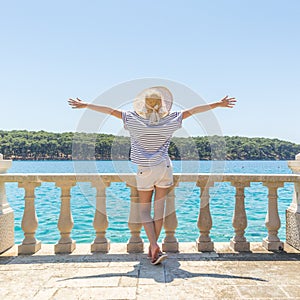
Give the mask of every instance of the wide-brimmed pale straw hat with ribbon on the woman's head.
[[[146, 104], [146, 98], [161, 99], [161, 107], [150, 107]], [[167, 116], [173, 104], [172, 93], [163, 86], [150, 87], [140, 92], [133, 102], [135, 112], [150, 123], [157, 124], [159, 120]], [[149, 113], [149, 110], [152, 112]]]

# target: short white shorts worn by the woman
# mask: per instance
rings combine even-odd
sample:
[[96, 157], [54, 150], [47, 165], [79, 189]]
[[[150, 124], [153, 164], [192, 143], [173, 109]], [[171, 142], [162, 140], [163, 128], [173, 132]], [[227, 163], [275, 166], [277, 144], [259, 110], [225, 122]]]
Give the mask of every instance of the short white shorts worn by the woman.
[[152, 167], [138, 166], [136, 175], [138, 191], [152, 191], [154, 187], [169, 188], [173, 185], [173, 166], [170, 159]]

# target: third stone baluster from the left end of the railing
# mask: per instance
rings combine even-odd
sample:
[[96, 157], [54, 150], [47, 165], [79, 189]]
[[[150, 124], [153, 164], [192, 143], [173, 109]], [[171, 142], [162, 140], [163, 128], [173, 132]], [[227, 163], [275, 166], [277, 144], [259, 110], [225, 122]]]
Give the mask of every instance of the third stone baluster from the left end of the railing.
[[105, 190], [109, 186], [110, 182], [92, 182], [92, 187], [96, 188], [96, 210], [93, 222], [96, 238], [91, 245], [91, 252], [107, 253], [110, 249], [110, 241], [105, 236], [108, 227]]

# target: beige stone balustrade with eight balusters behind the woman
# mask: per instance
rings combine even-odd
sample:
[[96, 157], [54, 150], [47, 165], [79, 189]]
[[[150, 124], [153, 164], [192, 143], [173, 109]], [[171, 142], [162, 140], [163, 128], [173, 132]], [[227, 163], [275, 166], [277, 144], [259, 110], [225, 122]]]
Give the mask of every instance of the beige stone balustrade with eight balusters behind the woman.
[[[19, 188], [25, 190], [25, 208], [22, 219], [22, 230], [24, 240], [18, 247], [19, 254], [32, 254], [37, 252], [40, 241], [35, 237], [38, 228], [38, 219], [35, 211], [35, 188], [42, 182], [54, 182], [61, 189], [61, 207], [58, 220], [58, 230], [60, 239], [54, 246], [55, 253], [71, 253], [76, 243], [70, 237], [74, 225], [72, 211], [70, 207], [71, 188], [78, 182], [90, 182], [96, 188], [96, 208], [93, 226], [95, 229], [95, 239], [91, 244], [92, 252], [108, 252], [110, 249], [109, 240], [106, 238], [108, 219], [106, 214], [106, 188], [112, 182], [126, 182], [130, 188], [131, 206], [128, 219], [130, 238], [127, 244], [127, 251], [143, 252], [144, 245], [140, 236], [142, 224], [138, 211], [138, 192], [135, 187], [135, 176], [133, 174], [0, 174], [0, 187], [8, 182], [17, 182]], [[176, 238], [177, 217], [175, 210], [175, 189], [181, 182], [195, 182], [200, 189], [200, 211], [197, 225], [199, 228], [199, 238], [196, 245], [199, 251], [213, 251], [214, 242], [210, 237], [210, 230], [213, 226], [210, 211], [209, 189], [215, 183], [230, 182], [235, 188], [235, 208], [232, 219], [234, 236], [230, 240], [230, 246], [236, 251], [249, 251], [250, 244], [245, 238], [247, 229], [247, 215], [244, 204], [244, 190], [252, 182], [262, 182], [268, 189], [268, 211], [266, 215], [267, 237], [262, 241], [263, 246], [268, 250], [282, 250], [283, 243], [278, 238], [280, 228], [280, 218], [277, 208], [277, 189], [283, 187], [284, 183], [294, 183], [300, 186], [299, 174], [174, 174], [174, 187], [170, 188], [166, 201], [166, 215], [164, 219], [165, 237], [162, 248], [164, 251], [177, 252], [178, 240]], [[5, 195], [0, 194], [0, 206], [6, 201]], [[297, 194], [298, 197], [298, 194]], [[295, 201], [295, 200], [293, 200]], [[1, 237], [2, 238], [2, 237]], [[0, 239], [1, 239], [0, 238]]]

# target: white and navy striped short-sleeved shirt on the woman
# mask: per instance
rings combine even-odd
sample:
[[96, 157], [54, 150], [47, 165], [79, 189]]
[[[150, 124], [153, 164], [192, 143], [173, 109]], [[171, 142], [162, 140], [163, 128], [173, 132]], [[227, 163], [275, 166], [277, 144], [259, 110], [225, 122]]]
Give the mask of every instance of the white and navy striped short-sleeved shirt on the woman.
[[168, 158], [168, 149], [173, 133], [181, 127], [182, 112], [172, 112], [157, 125], [136, 112], [122, 111], [124, 128], [131, 141], [130, 159], [139, 166], [155, 166]]

